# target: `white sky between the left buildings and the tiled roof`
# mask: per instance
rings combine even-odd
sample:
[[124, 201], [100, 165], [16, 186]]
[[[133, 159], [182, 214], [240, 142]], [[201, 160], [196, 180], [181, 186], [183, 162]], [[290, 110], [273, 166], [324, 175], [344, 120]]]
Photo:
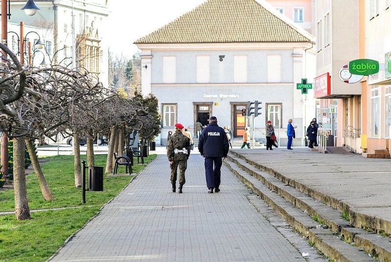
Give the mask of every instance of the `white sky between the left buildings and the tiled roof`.
[[[206, 0], [108, 0], [107, 37], [114, 55], [131, 58], [138, 48], [133, 42], [144, 37]], [[121, 32], [121, 30], [123, 32]]]

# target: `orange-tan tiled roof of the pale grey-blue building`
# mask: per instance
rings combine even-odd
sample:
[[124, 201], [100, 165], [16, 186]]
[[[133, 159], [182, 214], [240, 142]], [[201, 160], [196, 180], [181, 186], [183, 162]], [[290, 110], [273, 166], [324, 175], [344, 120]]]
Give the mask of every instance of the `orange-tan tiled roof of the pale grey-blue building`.
[[207, 0], [142, 43], [312, 42], [312, 36], [256, 0]]

